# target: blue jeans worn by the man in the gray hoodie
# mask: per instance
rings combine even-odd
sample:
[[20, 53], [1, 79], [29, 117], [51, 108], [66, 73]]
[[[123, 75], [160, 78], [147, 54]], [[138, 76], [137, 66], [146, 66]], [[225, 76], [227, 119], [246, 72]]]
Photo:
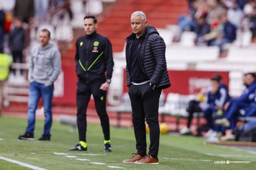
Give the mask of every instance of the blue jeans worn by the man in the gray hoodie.
[[32, 82], [29, 84], [29, 99], [28, 99], [28, 127], [27, 133], [34, 134], [36, 108], [40, 97], [43, 100], [43, 108], [45, 114], [45, 125], [43, 134], [50, 136], [52, 126], [52, 97], [54, 86], [45, 86], [42, 83]]

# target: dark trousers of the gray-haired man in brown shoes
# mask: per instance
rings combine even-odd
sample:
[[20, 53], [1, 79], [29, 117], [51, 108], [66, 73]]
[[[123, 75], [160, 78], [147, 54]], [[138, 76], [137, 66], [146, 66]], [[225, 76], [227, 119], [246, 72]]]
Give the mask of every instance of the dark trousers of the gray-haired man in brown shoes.
[[137, 153], [147, 155], [145, 118], [149, 125], [150, 146], [149, 155], [157, 157], [159, 150], [158, 107], [161, 89], [153, 90], [149, 83], [129, 87], [131, 99], [132, 121], [136, 138]]

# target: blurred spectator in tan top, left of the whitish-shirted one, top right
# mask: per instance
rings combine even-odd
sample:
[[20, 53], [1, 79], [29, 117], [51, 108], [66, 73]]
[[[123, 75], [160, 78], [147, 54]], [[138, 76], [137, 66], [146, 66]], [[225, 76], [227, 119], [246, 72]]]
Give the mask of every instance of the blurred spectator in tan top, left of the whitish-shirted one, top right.
[[217, 0], [208, 0], [207, 3], [209, 8], [207, 10], [206, 22], [211, 25], [224, 14], [224, 9]]

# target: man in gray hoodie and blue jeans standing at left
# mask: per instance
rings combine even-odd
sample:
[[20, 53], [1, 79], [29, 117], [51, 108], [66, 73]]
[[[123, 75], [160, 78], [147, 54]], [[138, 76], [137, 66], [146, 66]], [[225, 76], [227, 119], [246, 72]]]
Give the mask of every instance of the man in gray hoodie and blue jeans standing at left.
[[50, 32], [43, 29], [39, 33], [40, 45], [31, 51], [31, 62], [28, 71], [29, 101], [28, 127], [25, 134], [19, 136], [22, 140], [34, 140], [35, 112], [40, 97], [43, 100], [45, 114], [44, 132], [38, 140], [50, 140], [52, 126], [52, 97], [54, 81], [61, 73], [61, 54], [50, 42]]

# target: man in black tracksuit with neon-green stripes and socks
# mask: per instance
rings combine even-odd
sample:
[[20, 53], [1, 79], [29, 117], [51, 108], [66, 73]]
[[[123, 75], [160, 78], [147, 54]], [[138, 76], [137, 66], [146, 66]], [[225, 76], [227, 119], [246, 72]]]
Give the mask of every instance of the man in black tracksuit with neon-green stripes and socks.
[[[77, 126], [79, 143], [69, 150], [86, 151], [86, 109], [93, 95], [97, 114], [104, 133], [104, 151], [110, 152], [109, 117], [106, 112], [106, 95], [113, 72], [112, 45], [109, 39], [96, 32], [97, 19], [84, 18], [85, 35], [76, 41], [76, 90]], [[106, 75], [105, 72], [107, 71]]]

